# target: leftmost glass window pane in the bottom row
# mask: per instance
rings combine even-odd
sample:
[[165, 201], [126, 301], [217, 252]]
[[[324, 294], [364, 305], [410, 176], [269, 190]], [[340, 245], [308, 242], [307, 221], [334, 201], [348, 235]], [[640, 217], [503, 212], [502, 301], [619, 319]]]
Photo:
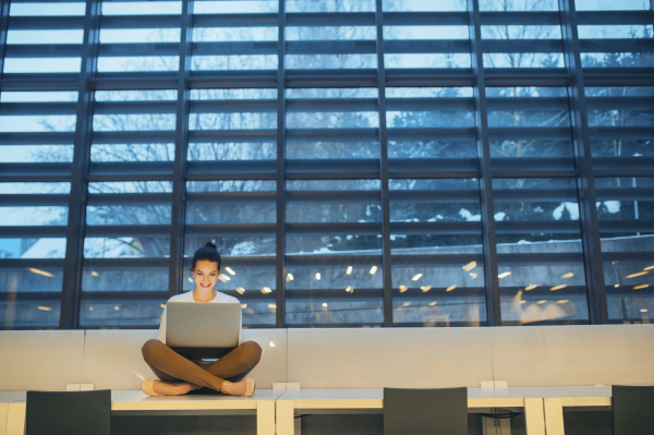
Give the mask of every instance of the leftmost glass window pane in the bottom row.
[[0, 183], [2, 226], [13, 227], [0, 235], [4, 329], [59, 327], [69, 193], [63, 182]]

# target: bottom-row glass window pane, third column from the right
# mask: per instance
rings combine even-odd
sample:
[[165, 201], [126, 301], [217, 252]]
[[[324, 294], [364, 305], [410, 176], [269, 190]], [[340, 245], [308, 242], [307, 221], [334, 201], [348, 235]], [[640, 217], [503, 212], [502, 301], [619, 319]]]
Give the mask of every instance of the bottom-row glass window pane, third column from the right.
[[479, 181], [390, 180], [396, 326], [486, 323]]

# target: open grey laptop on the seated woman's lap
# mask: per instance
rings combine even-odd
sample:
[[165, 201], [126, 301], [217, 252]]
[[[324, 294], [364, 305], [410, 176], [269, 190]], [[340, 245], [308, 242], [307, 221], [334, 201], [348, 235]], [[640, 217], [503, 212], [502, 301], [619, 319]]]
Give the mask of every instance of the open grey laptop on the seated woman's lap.
[[166, 345], [189, 359], [225, 357], [241, 338], [238, 303], [169, 302]]

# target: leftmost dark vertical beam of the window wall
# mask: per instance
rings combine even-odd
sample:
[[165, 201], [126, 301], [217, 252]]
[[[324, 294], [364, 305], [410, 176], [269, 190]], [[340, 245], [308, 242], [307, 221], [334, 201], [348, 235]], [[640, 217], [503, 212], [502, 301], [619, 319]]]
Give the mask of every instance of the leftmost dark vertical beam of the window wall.
[[97, 70], [97, 48], [100, 34], [100, 0], [86, 1], [82, 69], [77, 82], [77, 108], [71, 172], [69, 219], [65, 230], [65, 259], [59, 327], [74, 329], [80, 324], [82, 273], [84, 266], [84, 232], [86, 228], [86, 200], [88, 195], [88, 167], [93, 135], [94, 90], [90, 86]]

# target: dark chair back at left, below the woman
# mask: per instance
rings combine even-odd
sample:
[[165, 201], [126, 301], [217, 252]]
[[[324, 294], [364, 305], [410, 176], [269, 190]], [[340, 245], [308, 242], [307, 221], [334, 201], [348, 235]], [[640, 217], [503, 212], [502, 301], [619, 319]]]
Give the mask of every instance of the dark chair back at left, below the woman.
[[27, 391], [26, 435], [111, 435], [111, 390]]

